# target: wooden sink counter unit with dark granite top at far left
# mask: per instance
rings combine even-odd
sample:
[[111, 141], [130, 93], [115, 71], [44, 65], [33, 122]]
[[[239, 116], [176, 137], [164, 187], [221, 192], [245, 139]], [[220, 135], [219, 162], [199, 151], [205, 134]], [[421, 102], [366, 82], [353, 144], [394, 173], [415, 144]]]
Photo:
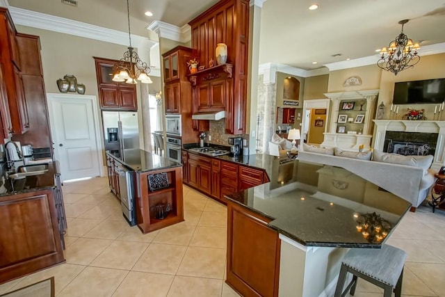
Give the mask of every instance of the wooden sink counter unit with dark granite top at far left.
[[[3, 167], [3, 166], [2, 166]], [[65, 262], [58, 163], [6, 172], [0, 186], [0, 284]]]

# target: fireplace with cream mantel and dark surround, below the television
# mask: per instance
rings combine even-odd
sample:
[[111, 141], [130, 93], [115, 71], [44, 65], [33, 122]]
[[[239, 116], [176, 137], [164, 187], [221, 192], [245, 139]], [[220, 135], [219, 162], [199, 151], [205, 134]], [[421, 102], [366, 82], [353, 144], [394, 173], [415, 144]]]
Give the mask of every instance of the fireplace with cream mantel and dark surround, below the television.
[[432, 154], [434, 155], [432, 169], [439, 170], [445, 165], [445, 120], [373, 120], [373, 122], [375, 150], [398, 154]]

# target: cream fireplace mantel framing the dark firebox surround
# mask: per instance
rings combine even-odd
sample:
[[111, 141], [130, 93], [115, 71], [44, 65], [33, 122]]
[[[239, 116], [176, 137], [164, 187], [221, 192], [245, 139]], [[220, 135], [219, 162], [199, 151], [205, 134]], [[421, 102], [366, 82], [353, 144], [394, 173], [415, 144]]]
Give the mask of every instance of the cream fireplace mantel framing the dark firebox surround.
[[432, 169], [439, 170], [445, 160], [445, 121], [441, 120], [373, 120], [375, 123], [375, 150], [383, 150], [386, 131], [437, 133], [437, 145]]

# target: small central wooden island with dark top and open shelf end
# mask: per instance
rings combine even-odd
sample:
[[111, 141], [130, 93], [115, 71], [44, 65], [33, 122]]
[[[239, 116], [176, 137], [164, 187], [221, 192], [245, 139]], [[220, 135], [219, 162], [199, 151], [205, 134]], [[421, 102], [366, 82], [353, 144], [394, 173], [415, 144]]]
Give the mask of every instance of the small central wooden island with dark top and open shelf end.
[[[124, 213], [134, 211], [136, 223], [143, 233], [184, 220], [182, 164], [139, 149], [124, 150], [122, 154], [106, 152], [106, 155], [110, 187], [120, 198]], [[122, 184], [120, 173], [115, 170], [119, 165], [134, 172], [128, 175], [133, 179], [133, 186], [127, 188], [129, 181]], [[123, 191], [124, 187], [127, 191]], [[127, 220], [131, 222], [131, 218], [127, 217]]]

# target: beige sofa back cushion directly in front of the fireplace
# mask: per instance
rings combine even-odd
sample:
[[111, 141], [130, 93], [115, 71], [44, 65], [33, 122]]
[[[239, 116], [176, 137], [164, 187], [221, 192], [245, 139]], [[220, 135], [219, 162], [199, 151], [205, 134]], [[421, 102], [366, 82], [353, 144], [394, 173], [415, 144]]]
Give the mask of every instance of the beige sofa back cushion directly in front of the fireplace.
[[403, 156], [402, 154], [380, 152], [379, 150], [373, 152], [373, 161], [419, 167], [423, 169], [424, 175], [428, 173], [428, 168], [430, 168], [433, 159], [434, 156], [431, 154], [427, 156]]

